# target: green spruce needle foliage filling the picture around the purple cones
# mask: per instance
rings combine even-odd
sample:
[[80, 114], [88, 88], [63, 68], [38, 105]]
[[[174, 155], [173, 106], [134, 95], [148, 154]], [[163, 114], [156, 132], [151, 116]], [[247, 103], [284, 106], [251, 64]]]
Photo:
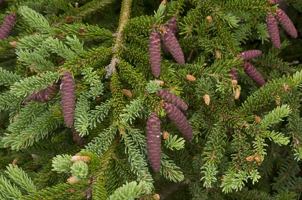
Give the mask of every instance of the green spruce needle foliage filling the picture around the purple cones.
[[[17, 21], [0, 40], [0, 198], [301, 198], [302, 4], [284, 2], [5, 1], [0, 21], [12, 13]], [[266, 26], [277, 8], [286, 8], [298, 32], [294, 39], [280, 29], [280, 49]], [[163, 51], [155, 78], [149, 34], [163, 36], [171, 18], [185, 64]], [[262, 51], [249, 60], [266, 81], [260, 88], [237, 57], [253, 49]], [[67, 70], [75, 82], [71, 129], [61, 91], [46, 103], [27, 99]], [[191, 142], [166, 116], [160, 89], [188, 105]], [[146, 146], [153, 112], [169, 132], [160, 173], [152, 172]], [[71, 155], [90, 161], [72, 163]]]

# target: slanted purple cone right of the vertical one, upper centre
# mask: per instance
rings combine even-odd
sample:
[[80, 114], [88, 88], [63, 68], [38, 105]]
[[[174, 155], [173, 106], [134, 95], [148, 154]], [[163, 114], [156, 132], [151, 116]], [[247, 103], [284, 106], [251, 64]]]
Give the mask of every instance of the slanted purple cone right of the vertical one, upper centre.
[[184, 53], [181, 50], [181, 47], [171, 31], [169, 27], [165, 27], [166, 33], [163, 34], [163, 43], [167, 46], [168, 50], [170, 51], [173, 58], [176, 60], [176, 62], [180, 65], [185, 64], [185, 57]]

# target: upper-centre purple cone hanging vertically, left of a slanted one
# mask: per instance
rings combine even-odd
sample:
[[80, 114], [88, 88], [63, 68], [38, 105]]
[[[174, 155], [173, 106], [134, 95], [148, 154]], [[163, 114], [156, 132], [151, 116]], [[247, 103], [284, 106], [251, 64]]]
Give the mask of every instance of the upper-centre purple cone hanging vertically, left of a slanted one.
[[149, 37], [149, 59], [152, 73], [155, 77], [161, 75], [161, 36], [157, 30], [153, 30]]

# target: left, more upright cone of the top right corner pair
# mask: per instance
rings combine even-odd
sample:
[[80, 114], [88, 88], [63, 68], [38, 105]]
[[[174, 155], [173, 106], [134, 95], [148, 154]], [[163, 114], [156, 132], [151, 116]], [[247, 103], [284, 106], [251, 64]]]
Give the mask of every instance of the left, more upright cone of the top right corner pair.
[[266, 18], [266, 26], [268, 30], [269, 37], [274, 45], [275, 48], [280, 49], [281, 42], [280, 42], [280, 36], [278, 31], [278, 25], [275, 17], [270, 12], [268, 13], [268, 16]]

